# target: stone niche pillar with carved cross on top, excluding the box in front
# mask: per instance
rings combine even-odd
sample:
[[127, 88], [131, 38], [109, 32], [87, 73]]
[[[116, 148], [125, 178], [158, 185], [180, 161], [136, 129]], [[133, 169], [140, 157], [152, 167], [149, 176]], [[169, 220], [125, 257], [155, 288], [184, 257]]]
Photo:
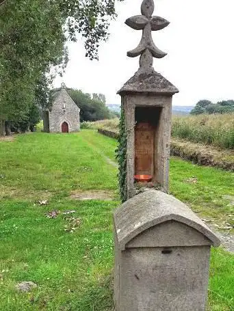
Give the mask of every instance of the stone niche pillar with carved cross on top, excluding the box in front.
[[142, 15], [125, 22], [133, 29], [142, 29], [142, 39], [127, 53], [129, 57], [140, 55], [140, 68], [118, 92], [127, 139], [123, 201], [137, 193], [134, 183], [145, 178], [150, 182], [148, 186], [168, 191], [172, 95], [179, 91], [153, 68], [153, 57], [161, 58], [166, 53], [155, 46], [151, 31], [169, 25], [164, 18], [152, 16], [153, 10], [153, 0], [144, 0]]

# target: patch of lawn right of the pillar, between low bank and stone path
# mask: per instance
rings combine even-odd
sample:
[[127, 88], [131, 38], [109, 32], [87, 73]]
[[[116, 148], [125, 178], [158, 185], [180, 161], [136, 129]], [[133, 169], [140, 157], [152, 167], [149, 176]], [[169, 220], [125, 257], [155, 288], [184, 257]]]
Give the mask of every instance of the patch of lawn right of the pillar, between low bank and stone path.
[[[196, 178], [195, 183], [190, 178]], [[200, 215], [216, 224], [234, 224], [234, 208], [224, 195], [233, 195], [234, 174], [201, 167], [179, 158], [170, 161], [170, 191]]]

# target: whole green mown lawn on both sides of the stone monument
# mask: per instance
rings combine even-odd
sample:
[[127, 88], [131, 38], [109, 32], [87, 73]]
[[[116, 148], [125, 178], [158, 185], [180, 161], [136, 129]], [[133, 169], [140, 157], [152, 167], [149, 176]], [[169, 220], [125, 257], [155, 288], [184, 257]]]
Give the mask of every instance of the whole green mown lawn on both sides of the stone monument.
[[[114, 139], [89, 130], [0, 141], [0, 310], [112, 311], [112, 211], [118, 199], [79, 201], [69, 195], [89, 189], [117, 193], [117, 169], [107, 159], [114, 161], [115, 148]], [[233, 195], [233, 178], [171, 160], [170, 191], [217, 221], [231, 221], [233, 207], [222, 196]], [[43, 199], [47, 206], [38, 204]], [[61, 213], [46, 217], [52, 210]], [[67, 210], [81, 219], [73, 233], [64, 230]], [[234, 256], [213, 249], [208, 310], [234, 310], [233, 271]], [[38, 287], [18, 293], [15, 285], [25, 280]]]

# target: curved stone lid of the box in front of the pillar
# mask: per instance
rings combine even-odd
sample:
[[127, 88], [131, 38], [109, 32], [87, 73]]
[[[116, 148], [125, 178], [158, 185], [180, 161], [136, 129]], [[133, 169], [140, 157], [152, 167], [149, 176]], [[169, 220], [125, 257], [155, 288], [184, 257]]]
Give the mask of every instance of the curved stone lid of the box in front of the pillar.
[[129, 241], [148, 228], [170, 220], [194, 228], [203, 234], [211, 245], [220, 245], [216, 234], [213, 234], [185, 204], [167, 193], [149, 190], [127, 200], [114, 212], [114, 224], [120, 249], [124, 250]]

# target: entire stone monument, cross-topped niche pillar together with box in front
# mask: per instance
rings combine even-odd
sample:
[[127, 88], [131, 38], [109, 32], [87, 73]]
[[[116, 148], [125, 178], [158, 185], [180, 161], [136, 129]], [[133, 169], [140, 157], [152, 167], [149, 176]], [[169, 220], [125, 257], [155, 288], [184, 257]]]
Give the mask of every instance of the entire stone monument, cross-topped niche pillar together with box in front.
[[[153, 0], [144, 0], [142, 15], [126, 21], [143, 33], [138, 47], [128, 52], [130, 57], [141, 55], [140, 68], [119, 91], [118, 162], [124, 203], [114, 212], [115, 307], [205, 311], [210, 248], [220, 241], [190, 208], [166, 193], [172, 95], [179, 91], [153, 69], [153, 57], [166, 53], [157, 49], [151, 31], [168, 25], [164, 18], [152, 16], [153, 10]], [[138, 194], [140, 185], [144, 187]]]

